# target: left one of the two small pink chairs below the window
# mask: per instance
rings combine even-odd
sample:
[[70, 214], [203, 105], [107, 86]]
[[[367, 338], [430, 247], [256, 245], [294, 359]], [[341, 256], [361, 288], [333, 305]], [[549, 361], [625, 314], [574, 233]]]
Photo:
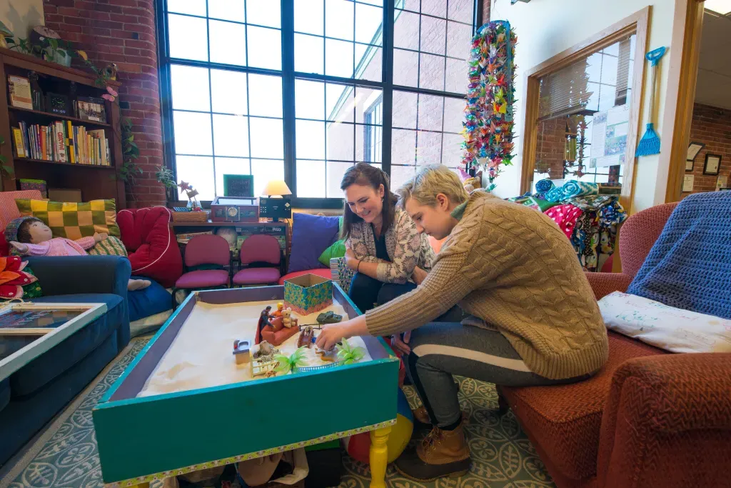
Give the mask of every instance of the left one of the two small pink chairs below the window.
[[177, 289], [228, 287], [229, 272], [224, 267], [230, 264], [230, 260], [231, 253], [226, 239], [214, 234], [195, 236], [185, 247], [186, 269], [203, 266], [216, 269], [195, 269], [183, 273], [175, 282], [173, 297]]

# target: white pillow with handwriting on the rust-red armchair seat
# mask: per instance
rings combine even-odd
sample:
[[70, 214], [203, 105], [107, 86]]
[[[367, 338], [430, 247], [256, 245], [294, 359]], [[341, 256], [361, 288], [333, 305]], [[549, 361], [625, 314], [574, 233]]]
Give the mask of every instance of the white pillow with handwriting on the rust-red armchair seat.
[[618, 291], [599, 300], [607, 328], [671, 353], [731, 352], [731, 320]]

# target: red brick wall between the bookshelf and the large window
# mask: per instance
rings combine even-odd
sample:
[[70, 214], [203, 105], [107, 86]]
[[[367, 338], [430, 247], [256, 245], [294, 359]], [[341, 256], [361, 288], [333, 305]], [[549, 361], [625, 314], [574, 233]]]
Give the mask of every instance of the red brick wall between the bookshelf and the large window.
[[[132, 121], [143, 175], [127, 206], [164, 205], [155, 171], [163, 164], [154, 0], [44, 0], [45, 25], [85, 50], [97, 67], [117, 64], [121, 116]], [[76, 62], [76, 61], [75, 61]], [[83, 69], [83, 68], [82, 68]]]

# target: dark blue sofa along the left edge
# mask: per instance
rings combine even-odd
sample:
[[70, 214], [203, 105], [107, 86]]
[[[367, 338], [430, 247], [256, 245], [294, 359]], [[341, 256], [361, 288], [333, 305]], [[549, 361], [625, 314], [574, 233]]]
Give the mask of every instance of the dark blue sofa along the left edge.
[[107, 312], [0, 382], [0, 466], [129, 343], [129, 260], [37, 257], [29, 267], [43, 290], [34, 302], [104, 302]]

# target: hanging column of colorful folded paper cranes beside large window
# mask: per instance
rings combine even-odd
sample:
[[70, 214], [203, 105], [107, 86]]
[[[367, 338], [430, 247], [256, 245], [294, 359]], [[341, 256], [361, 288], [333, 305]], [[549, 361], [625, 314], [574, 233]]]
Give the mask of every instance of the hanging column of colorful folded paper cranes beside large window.
[[501, 165], [512, 165], [516, 42], [506, 20], [486, 23], [472, 38], [462, 162], [466, 170], [485, 166], [488, 190]]

